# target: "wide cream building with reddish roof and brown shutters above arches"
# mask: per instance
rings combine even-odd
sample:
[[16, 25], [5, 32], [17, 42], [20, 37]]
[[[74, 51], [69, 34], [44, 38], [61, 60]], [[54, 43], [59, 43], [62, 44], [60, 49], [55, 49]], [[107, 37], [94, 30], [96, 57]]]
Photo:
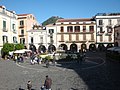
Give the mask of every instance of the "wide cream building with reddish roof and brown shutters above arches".
[[58, 19], [56, 32], [57, 47], [65, 50], [89, 49], [96, 41], [96, 23], [92, 18]]

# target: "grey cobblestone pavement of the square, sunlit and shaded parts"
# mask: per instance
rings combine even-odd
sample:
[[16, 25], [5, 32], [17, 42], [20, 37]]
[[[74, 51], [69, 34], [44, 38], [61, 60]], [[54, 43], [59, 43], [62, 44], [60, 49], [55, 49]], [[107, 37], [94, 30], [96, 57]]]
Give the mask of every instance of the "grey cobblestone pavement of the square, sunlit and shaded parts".
[[105, 60], [104, 52], [88, 52], [82, 64], [58, 63], [49, 68], [30, 65], [28, 60], [20, 64], [0, 60], [0, 90], [26, 90], [28, 80], [40, 90], [46, 75], [52, 78], [52, 90], [120, 90], [119, 71], [120, 63]]

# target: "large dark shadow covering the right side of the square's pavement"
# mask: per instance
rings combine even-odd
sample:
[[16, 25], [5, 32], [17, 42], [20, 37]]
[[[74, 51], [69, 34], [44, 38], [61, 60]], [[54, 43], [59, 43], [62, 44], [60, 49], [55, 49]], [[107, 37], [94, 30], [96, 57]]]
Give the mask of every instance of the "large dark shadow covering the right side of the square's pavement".
[[[96, 60], [97, 57], [105, 60], [105, 52], [88, 52], [87, 56], [93, 58], [91, 61], [95, 60], [98, 63], [100, 60]], [[77, 63], [61, 63], [58, 67], [74, 70], [87, 85], [87, 87], [82, 86], [81, 82], [77, 81], [76, 87], [71, 87], [71, 90], [120, 90], [120, 63], [118, 62], [105, 60], [103, 65], [89, 69], [82, 69], [84, 65], [80, 66]], [[81, 69], [78, 70], [78, 67]]]

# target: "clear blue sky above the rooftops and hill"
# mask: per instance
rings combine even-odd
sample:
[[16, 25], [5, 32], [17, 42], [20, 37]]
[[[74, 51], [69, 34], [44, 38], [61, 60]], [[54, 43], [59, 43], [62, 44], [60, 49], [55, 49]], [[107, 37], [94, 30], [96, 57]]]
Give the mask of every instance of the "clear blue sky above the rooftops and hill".
[[97, 13], [120, 13], [120, 0], [0, 0], [17, 14], [33, 14], [39, 23], [51, 16], [91, 18]]

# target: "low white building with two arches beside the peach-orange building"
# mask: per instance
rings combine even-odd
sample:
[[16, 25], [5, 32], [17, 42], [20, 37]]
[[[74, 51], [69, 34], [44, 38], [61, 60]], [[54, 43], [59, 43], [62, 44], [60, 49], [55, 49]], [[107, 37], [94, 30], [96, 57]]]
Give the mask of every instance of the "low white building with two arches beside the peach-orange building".
[[34, 25], [31, 30], [28, 30], [29, 49], [36, 52], [45, 52], [47, 47], [47, 32], [44, 27]]

